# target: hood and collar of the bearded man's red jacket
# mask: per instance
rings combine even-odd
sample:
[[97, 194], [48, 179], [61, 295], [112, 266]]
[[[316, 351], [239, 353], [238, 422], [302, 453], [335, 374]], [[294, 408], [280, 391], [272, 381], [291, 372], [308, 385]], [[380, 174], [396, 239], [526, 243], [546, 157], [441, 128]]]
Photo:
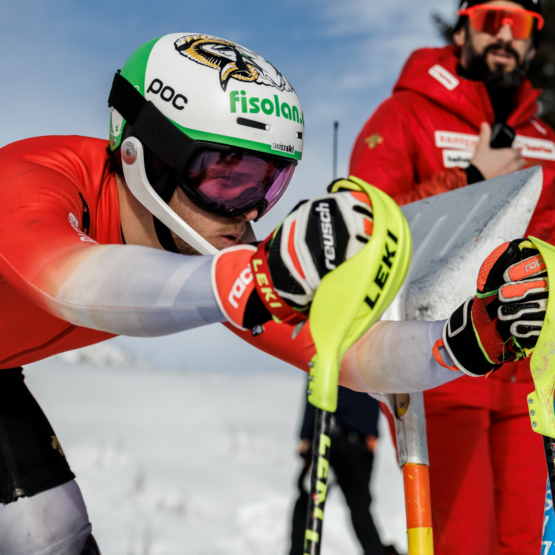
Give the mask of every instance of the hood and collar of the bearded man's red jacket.
[[[486, 85], [457, 73], [460, 49], [455, 46], [422, 48], [411, 54], [393, 88], [423, 95], [443, 108], [456, 113], [474, 127], [484, 121], [495, 122]], [[507, 118], [508, 125], [518, 127], [538, 111], [536, 98], [541, 93], [529, 79], [524, 79], [516, 93], [516, 106]]]

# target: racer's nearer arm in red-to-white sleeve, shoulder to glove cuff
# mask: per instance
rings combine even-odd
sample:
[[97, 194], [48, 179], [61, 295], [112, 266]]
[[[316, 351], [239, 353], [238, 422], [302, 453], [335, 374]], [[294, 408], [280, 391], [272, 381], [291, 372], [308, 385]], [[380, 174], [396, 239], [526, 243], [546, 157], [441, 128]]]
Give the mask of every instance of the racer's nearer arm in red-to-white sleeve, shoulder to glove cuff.
[[72, 324], [156, 336], [225, 320], [210, 286], [211, 257], [138, 245], [99, 245], [82, 228], [80, 184], [16, 160], [0, 181], [0, 275]]

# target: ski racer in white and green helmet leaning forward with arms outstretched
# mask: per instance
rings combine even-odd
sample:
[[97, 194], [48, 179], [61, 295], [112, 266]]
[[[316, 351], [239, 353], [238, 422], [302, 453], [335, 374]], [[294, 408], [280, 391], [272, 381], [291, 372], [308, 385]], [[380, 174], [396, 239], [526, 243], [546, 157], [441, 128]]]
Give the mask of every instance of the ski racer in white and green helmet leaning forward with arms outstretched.
[[[307, 371], [315, 349], [301, 325], [321, 279], [370, 240], [389, 241], [376, 264], [383, 286], [397, 249], [410, 244], [377, 225], [398, 207], [375, 210], [369, 195], [382, 193], [347, 180], [300, 203], [266, 240], [241, 244], [289, 183], [304, 117], [283, 75], [238, 44], [187, 33], [154, 39], [114, 76], [109, 104], [109, 142], [37, 137], [0, 149], [2, 555], [99, 553], [22, 365], [117, 334], [226, 322]], [[481, 270], [480, 290], [494, 299], [507, 266], [529, 256], [537, 251], [528, 243], [502, 245]], [[529, 285], [519, 286], [526, 300]], [[511, 306], [513, 325], [526, 321]], [[505, 344], [521, 356], [518, 336], [528, 331], [500, 335], [483, 319], [471, 329], [469, 307], [453, 313], [463, 325], [448, 335], [445, 322], [380, 322], [347, 353], [341, 384], [421, 391], [486, 374], [505, 361]]]

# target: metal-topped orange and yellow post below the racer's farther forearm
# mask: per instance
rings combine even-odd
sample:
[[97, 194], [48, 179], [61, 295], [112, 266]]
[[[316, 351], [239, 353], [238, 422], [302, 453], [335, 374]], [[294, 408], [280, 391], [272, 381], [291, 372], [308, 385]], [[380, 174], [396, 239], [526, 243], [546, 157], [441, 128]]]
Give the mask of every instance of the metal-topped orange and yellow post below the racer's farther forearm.
[[397, 393], [395, 412], [397, 453], [405, 486], [408, 555], [433, 555], [430, 471], [422, 393]]

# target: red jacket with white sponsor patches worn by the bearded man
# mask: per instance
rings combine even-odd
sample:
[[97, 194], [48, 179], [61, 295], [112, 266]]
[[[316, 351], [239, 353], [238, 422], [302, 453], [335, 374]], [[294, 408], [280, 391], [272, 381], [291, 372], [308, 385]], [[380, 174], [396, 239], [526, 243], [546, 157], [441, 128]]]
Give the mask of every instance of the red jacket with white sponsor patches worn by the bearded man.
[[[482, 122], [495, 116], [485, 85], [457, 74], [458, 49], [423, 48], [408, 58], [390, 98], [366, 122], [351, 154], [350, 175], [398, 204], [465, 186]], [[541, 91], [524, 79], [507, 124], [527, 165], [543, 168], [543, 191], [528, 226], [555, 244], [555, 132], [534, 117]]]

